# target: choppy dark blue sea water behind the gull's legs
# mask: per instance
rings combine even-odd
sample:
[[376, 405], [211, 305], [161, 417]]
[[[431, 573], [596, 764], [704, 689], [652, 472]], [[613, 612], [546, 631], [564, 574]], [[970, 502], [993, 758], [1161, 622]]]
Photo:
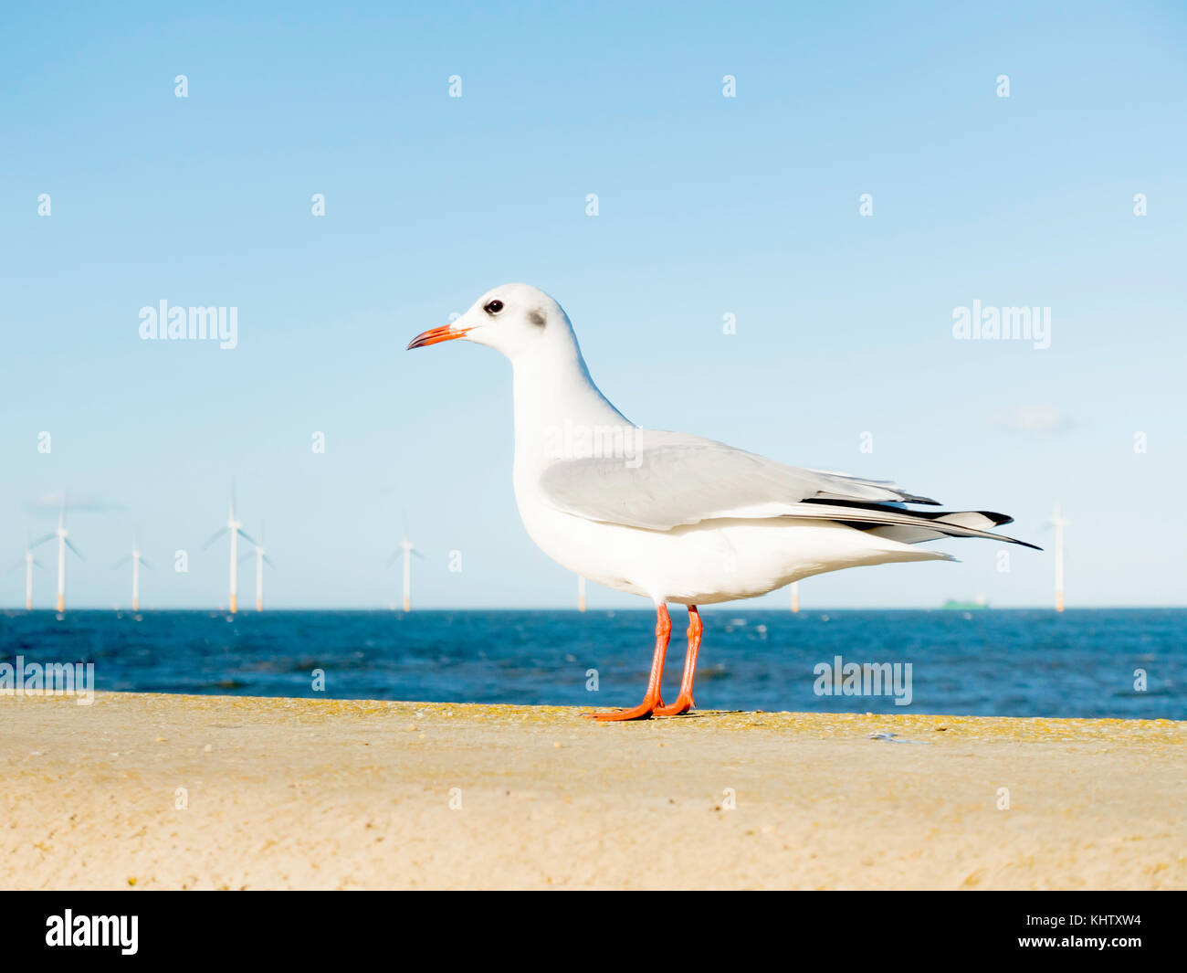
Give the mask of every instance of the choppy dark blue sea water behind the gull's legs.
[[[703, 617], [696, 697], [705, 709], [1187, 719], [1182, 608]], [[9, 611], [0, 663], [93, 662], [101, 690], [628, 706], [643, 694], [654, 624], [650, 611]], [[673, 611], [668, 697], [684, 628]], [[910, 663], [910, 705], [818, 694], [815, 666], [838, 656]]]

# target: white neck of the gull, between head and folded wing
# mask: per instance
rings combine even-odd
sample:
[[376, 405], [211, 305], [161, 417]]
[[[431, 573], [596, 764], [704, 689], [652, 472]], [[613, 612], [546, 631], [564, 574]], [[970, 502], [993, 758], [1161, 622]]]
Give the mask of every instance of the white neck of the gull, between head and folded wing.
[[566, 443], [633, 427], [590, 378], [577, 347], [513, 362], [516, 463], [563, 459]]

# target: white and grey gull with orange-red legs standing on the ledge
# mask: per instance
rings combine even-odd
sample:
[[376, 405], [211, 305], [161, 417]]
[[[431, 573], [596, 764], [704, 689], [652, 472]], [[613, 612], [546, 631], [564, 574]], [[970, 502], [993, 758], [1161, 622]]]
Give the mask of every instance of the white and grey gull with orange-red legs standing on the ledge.
[[[757, 598], [825, 571], [899, 561], [954, 561], [918, 546], [985, 537], [1013, 518], [916, 511], [935, 500], [867, 480], [786, 466], [685, 432], [645, 429], [598, 391], [564, 309], [528, 284], [504, 284], [408, 349], [471, 341], [512, 362], [515, 503], [528, 535], [573, 574], [655, 605], [655, 649], [643, 701], [596, 720], [674, 716], [693, 708], [704, 631], [698, 605]], [[672, 634], [668, 604], [688, 611], [675, 701], [660, 696]]]

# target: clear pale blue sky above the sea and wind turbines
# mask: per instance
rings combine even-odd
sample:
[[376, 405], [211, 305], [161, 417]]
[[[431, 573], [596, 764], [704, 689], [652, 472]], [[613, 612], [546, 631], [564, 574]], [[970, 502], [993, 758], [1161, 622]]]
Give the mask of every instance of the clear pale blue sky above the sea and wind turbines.
[[[1187, 604], [1187, 15], [957, 6], [6, 11], [0, 564], [69, 489], [68, 604], [128, 604], [134, 531], [146, 607], [224, 604], [226, 550], [199, 549], [235, 478], [275, 607], [392, 604], [401, 511], [415, 604], [571, 605], [515, 510], [509, 366], [404, 350], [525, 280], [634, 422], [1048, 546], [1061, 499], [1069, 605]], [[161, 299], [237, 308], [239, 346], [141, 341]], [[1050, 308], [1050, 347], [954, 340], [975, 299]], [[1049, 604], [1049, 551], [944, 549], [801, 601]], [[21, 571], [0, 585], [20, 602]]]

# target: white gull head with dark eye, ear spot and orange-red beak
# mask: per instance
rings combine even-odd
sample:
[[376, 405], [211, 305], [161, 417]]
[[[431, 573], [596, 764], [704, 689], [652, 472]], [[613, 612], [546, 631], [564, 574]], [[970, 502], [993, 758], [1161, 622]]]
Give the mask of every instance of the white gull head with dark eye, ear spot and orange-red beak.
[[561, 307], [531, 284], [503, 284], [487, 291], [459, 318], [423, 331], [408, 342], [408, 348], [458, 339], [487, 345], [512, 361], [558, 343], [571, 346], [573, 341]]

